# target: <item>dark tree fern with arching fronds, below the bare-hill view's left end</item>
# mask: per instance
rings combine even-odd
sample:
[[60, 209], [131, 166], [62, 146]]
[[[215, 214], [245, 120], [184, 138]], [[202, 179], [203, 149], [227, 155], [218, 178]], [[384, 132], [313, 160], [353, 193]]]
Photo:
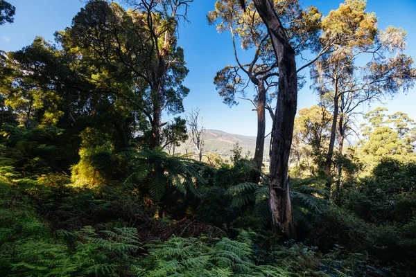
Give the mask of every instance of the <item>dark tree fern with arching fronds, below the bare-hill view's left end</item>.
[[171, 156], [162, 149], [141, 148], [123, 152], [132, 166], [132, 174], [125, 184], [145, 184], [150, 197], [156, 202], [173, 188], [186, 195], [200, 195], [198, 186], [206, 184], [203, 177], [205, 164], [189, 159], [187, 156]]

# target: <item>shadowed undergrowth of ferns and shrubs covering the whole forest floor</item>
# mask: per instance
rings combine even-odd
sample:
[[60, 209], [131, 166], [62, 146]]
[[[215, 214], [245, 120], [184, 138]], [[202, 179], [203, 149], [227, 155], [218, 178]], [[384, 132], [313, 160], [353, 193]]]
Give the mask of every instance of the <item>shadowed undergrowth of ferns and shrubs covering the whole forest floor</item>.
[[[270, 231], [268, 189], [248, 182], [246, 159], [212, 168], [160, 150], [97, 147], [63, 172], [54, 167], [66, 157], [50, 159], [57, 146], [8, 134], [1, 276], [414, 274], [413, 163], [385, 160], [346, 182], [338, 206], [321, 179], [293, 179], [297, 240], [285, 242]], [[78, 176], [100, 181], [79, 186]]]

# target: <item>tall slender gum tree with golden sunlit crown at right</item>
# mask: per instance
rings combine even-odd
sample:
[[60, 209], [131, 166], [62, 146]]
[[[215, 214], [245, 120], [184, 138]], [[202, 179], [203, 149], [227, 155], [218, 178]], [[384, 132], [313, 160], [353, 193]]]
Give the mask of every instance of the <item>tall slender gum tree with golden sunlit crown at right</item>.
[[[313, 88], [320, 96], [331, 99], [333, 111], [325, 163], [328, 176], [336, 135], [338, 154], [342, 155], [356, 108], [400, 89], [406, 91], [413, 87], [415, 79], [413, 60], [403, 53], [406, 32], [392, 26], [379, 30], [376, 15], [365, 8], [366, 1], [346, 0], [322, 20], [321, 42], [331, 45], [331, 49], [320, 57], [311, 73]], [[330, 188], [331, 181], [327, 185]]]

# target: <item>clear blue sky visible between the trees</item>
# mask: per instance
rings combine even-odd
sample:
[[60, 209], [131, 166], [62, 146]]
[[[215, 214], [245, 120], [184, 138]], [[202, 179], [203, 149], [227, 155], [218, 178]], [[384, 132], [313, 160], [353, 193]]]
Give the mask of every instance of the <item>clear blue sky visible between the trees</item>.
[[[56, 30], [71, 25], [71, 19], [82, 6], [80, 0], [8, 0], [16, 7], [15, 23], [0, 26], [0, 49], [15, 51], [33, 42], [35, 36], [53, 39]], [[215, 26], [207, 24], [206, 15], [216, 0], [195, 0], [189, 8], [191, 24], [180, 26], [179, 44], [184, 48], [189, 75], [185, 81], [191, 93], [184, 100], [187, 111], [199, 107], [205, 113], [205, 127], [234, 134], [255, 135], [256, 114], [250, 102], [243, 101], [229, 109], [223, 104], [213, 84], [216, 72], [227, 64], [235, 64], [232, 44], [227, 33], [219, 35]], [[338, 0], [304, 0], [327, 15], [338, 8]], [[367, 0], [367, 11], [376, 12], [379, 28], [388, 25], [403, 27], [408, 32], [406, 52], [416, 60], [416, 0]], [[249, 53], [242, 53], [250, 57]], [[304, 71], [306, 75], [308, 70]], [[315, 104], [316, 96], [309, 83], [299, 93], [298, 109]], [[248, 96], [254, 91], [249, 88]], [[386, 99], [389, 111], [404, 111], [416, 119], [416, 89]], [[372, 105], [377, 107], [379, 104]], [[369, 109], [369, 108], [366, 108]], [[267, 120], [270, 123], [269, 118]]]

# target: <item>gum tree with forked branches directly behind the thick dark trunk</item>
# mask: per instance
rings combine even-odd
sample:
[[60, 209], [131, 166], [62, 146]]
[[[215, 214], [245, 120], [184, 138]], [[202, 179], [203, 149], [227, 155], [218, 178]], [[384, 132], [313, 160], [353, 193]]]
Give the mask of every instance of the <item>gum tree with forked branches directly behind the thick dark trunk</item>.
[[[278, 82], [275, 78], [279, 76], [278, 64], [273, 55], [268, 29], [255, 9], [254, 3], [251, 2], [244, 9], [240, 5], [236, 1], [220, 0], [216, 2], [215, 10], [209, 12], [207, 16], [210, 24], [216, 24], [219, 33], [227, 30], [231, 33], [236, 59], [235, 66], [227, 65], [217, 72], [214, 84], [223, 102], [230, 107], [238, 104], [237, 93], [243, 96], [241, 99], [250, 100], [254, 105], [254, 110], [257, 111], [257, 141], [253, 166], [257, 171], [261, 171], [266, 135], [265, 111], [266, 109], [269, 111], [273, 120], [274, 111], [271, 102], [277, 92]], [[298, 1], [273, 1], [273, 6], [284, 21], [288, 39], [297, 54], [318, 44], [317, 34], [321, 14], [316, 8], [303, 10]], [[240, 39], [243, 50], [254, 50], [251, 62], [241, 62], [236, 49], [237, 39]], [[243, 76], [247, 76], [248, 80]], [[254, 84], [257, 90], [253, 100], [244, 98], [249, 83]], [[259, 181], [259, 175], [253, 176], [252, 181]]]

